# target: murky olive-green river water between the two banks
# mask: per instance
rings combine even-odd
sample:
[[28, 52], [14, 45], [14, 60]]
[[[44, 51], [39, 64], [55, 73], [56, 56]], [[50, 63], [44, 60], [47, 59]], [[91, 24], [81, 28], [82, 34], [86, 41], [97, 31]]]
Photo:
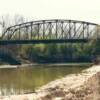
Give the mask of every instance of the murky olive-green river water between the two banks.
[[52, 66], [0, 69], [0, 95], [33, 92], [36, 88], [84, 67]]

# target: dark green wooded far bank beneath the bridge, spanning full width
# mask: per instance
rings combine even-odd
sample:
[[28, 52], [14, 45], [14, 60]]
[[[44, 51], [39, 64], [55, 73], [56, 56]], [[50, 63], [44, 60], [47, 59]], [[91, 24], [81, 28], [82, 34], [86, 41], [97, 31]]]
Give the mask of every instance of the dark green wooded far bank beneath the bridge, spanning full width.
[[[100, 55], [100, 41], [88, 43], [28, 44], [0, 46], [1, 62], [55, 63], [93, 62]], [[14, 62], [14, 63], [13, 63]]]

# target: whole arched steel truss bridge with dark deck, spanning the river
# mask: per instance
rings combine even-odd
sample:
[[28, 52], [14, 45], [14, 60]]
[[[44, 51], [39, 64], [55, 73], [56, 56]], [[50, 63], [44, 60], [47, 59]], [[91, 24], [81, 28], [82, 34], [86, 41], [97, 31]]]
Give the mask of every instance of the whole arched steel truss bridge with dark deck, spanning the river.
[[76, 20], [40, 20], [8, 27], [0, 45], [34, 43], [82, 43], [99, 39], [99, 25]]

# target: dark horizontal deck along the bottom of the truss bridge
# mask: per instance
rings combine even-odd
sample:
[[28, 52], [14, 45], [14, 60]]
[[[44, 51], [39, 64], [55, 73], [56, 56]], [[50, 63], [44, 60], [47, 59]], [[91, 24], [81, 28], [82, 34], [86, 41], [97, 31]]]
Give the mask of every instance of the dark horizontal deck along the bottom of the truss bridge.
[[39, 43], [85, 43], [88, 39], [48, 39], [48, 40], [0, 40], [0, 45], [39, 44]]

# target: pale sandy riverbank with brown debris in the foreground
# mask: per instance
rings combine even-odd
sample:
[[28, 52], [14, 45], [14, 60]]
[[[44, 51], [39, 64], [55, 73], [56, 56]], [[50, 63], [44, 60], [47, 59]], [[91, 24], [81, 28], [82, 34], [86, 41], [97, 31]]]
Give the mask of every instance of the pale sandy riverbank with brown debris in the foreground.
[[0, 100], [100, 100], [100, 66], [57, 79], [35, 93], [2, 96]]

